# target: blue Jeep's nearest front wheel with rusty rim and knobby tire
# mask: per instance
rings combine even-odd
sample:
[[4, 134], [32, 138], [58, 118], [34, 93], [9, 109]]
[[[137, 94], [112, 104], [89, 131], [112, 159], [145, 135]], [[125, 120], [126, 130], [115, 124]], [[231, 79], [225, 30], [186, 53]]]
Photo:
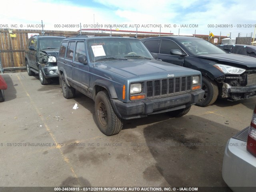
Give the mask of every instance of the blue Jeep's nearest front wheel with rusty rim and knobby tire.
[[95, 98], [96, 124], [107, 136], [118, 134], [123, 128], [122, 120], [113, 110], [107, 91], [100, 91]]

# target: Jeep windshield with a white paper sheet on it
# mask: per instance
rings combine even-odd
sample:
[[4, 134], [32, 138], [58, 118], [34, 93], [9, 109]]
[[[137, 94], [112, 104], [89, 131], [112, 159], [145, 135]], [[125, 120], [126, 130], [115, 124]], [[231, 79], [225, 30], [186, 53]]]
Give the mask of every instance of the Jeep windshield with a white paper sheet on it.
[[153, 58], [144, 44], [134, 38], [95, 38], [88, 40], [87, 46], [91, 62]]

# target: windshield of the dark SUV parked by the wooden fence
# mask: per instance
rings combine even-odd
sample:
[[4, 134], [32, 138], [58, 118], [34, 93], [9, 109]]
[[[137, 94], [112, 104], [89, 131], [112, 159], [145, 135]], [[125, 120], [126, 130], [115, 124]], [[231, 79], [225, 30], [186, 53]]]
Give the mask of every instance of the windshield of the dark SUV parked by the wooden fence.
[[63, 38], [39, 38], [39, 48], [40, 49], [59, 49], [61, 41]]

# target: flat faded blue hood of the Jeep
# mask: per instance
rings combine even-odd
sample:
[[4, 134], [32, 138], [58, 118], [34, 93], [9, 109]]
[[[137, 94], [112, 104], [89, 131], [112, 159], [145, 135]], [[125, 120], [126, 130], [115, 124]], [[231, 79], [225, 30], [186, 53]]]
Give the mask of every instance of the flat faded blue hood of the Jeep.
[[200, 74], [199, 71], [162, 62], [159, 60], [118, 60], [111, 62], [96, 63], [95, 67], [102, 70], [114, 72], [115, 74], [124, 76], [126, 78], [145, 76], [147, 79], [151, 79], [154, 77], [167, 78], [168, 74], [174, 74], [174, 76]]

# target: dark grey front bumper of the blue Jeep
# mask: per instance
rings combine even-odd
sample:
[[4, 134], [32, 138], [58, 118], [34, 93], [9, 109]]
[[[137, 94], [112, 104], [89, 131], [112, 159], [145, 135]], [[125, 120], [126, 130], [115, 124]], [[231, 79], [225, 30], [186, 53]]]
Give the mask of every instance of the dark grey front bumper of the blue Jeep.
[[204, 97], [204, 90], [148, 100], [138, 100], [124, 103], [120, 100], [111, 99], [116, 114], [122, 119], [146, 117], [148, 114], [174, 111], [196, 104]]

